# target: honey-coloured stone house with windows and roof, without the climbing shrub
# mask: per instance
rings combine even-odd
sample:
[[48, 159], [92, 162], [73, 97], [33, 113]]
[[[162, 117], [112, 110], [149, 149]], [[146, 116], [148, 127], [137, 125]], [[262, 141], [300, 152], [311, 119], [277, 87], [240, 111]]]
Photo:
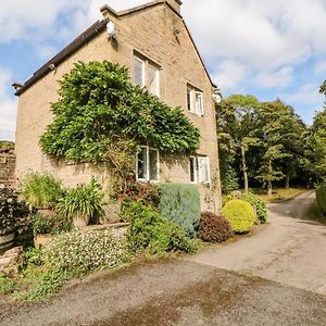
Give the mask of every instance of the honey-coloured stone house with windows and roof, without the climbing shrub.
[[[77, 61], [112, 61], [129, 68], [135, 84], [147, 87], [172, 106], [181, 106], [200, 130], [196, 155], [171, 162], [146, 145], [137, 154], [139, 181], [192, 183], [200, 188], [202, 210], [221, 208], [214, 92], [203, 61], [180, 14], [180, 0], [158, 0], [126, 11], [101, 8], [103, 20], [91, 25], [16, 88], [16, 175], [51, 172], [64, 184], [87, 183], [108, 172], [91, 164], [72, 164], [45, 155], [38, 143], [52, 121], [50, 103], [59, 83]], [[212, 190], [213, 189], [213, 190]]]

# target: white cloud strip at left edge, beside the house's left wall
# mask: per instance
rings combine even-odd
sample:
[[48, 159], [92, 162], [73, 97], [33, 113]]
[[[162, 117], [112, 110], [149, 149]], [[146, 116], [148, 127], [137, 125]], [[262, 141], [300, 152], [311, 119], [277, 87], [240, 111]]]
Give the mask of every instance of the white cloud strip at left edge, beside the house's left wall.
[[0, 67], [0, 140], [14, 139], [16, 122], [16, 99], [8, 95], [11, 74]]

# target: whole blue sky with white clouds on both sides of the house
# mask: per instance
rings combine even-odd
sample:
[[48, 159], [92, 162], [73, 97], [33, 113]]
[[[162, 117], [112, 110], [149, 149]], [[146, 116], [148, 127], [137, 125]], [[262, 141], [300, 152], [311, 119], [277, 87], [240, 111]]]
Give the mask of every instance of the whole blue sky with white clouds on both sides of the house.
[[[2, 0], [0, 2], [0, 139], [14, 139], [11, 84], [101, 18], [102, 4], [123, 10], [145, 0]], [[326, 79], [326, 0], [184, 0], [181, 13], [223, 96], [277, 97], [308, 124], [322, 110]], [[36, 117], [37, 118], [37, 117]]]

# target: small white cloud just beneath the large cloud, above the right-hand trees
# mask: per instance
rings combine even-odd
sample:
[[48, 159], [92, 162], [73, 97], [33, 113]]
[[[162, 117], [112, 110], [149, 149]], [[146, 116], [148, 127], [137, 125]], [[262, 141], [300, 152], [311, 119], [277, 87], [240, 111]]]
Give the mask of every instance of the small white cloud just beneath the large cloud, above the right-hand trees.
[[261, 72], [254, 78], [254, 84], [259, 88], [284, 88], [293, 80], [293, 68], [290, 66], [281, 67], [278, 71]]

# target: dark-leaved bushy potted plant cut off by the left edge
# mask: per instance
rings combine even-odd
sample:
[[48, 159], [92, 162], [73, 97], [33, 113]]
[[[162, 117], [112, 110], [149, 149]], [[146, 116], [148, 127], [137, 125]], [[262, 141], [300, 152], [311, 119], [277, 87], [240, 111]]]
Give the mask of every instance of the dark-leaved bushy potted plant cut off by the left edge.
[[12, 247], [16, 230], [22, 233], [27, 228], [29, 213], [15, 190], [0, 185], [0, 251]]

